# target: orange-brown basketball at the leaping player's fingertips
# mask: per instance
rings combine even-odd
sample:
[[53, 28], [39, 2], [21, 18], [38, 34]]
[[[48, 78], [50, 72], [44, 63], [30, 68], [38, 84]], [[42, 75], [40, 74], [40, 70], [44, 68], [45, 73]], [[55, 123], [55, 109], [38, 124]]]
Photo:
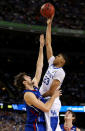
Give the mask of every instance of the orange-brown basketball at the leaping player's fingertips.
[[55, 8], [51, 3], [45, 3], [41, 6], [40, 13], [45, 18], [50, 18], [55, 13]]

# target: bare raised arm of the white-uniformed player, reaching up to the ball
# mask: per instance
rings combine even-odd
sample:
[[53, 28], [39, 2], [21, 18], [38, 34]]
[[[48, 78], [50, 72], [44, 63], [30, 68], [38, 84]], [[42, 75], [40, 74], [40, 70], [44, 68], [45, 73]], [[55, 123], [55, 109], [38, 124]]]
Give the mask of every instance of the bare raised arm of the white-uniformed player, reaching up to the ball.
[[46, 52], [47, 52], [47, 59], [49, 60], [49, 58], [51, 56], [53, 56], [53, 50], [52, 50], [52, 46], [51, 46], [51, 25], [52, 25], [52, 19], [53, 18], [49, 18], [47, 20], [47, 29], [46, 29]]

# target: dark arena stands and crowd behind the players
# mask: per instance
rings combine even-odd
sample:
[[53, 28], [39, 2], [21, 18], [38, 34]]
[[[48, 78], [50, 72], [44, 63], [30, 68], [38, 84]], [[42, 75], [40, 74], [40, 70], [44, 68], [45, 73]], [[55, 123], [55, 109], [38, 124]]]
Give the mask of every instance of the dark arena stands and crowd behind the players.
[[[2, 131], [24, 131], [26, 112], [14, 110], [12, 104], [23, 104], [21, 92], [14, 86], [14, 76], [27, 72], [34, 76], [39, 51], [39, 36], [46, 31], [46, 19], [40, 7], [51, 2], [56, 9], [52, 24], [54, 55], [64, 52], [69, 63], [64, 67], [62, 106], [84, 106], [76, 112], [76, 126], [85, 130], [85, 1], [84, 0], [1, 0], [0, 1], [0, 128]], [[47, 69], [44, 47], [43, 75]], [[41, 78], [41, 81], [42, 81]], [[41, 85], [41, 82], [40, 82]], [[64, 122], [60, 112], [60, 123]]]

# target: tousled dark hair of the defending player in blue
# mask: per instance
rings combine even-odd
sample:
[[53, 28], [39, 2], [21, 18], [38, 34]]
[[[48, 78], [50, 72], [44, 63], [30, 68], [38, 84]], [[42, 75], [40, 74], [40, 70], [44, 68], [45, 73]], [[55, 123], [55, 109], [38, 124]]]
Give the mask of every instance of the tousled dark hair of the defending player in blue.
[[14, 78], [14, 85], [21, 91], [25, 89], [25, 86], [23, 84], [24, 76], [27, 75], [25, 72], [19, 73]]

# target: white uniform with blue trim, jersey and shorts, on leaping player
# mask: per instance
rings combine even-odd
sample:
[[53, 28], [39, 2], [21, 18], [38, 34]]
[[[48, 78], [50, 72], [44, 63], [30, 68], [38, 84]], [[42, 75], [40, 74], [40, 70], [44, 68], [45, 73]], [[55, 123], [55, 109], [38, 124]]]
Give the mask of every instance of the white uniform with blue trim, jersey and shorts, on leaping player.
[[[40, 87], [40, 93], [42, 95], [50, 89], [53, 80], [59, 80], [60, 86], [64, 80], [65, 72], [62, 68], [57, 68], [53, 65], [54, 60], [55, 60], [55, 57], [52, 56], [48, 61], [49, 67], [44, 75], [43, 82]], [[49, 99], [49, 98], [50, 97], [46, 97], [46, 99]], [[61, 102], [58, 97], [55, 99], [51, 107], [51, 110], [45, 113], [47, 131], [60, 131], [60, 126], [59, 126], [60, 108], [61, 108]]]

